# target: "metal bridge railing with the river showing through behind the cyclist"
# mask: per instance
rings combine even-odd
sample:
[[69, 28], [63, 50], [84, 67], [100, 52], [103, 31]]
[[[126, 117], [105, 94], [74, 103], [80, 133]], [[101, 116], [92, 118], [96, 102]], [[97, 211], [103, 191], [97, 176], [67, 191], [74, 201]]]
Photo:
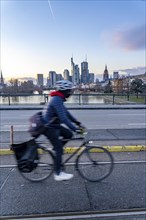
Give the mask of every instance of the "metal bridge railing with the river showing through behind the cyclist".
[[[50, 101], [50, 96], [46, 94], [0, 94], [0, 104], [3, 105], [21, 105], [21, 104], [39, 104], [43, 105]], [[67, 104], [88, 105], [88, 104], [146, 104], [146, 94], [100, 94], [84, 93], [73, 94], [67, 101]]]

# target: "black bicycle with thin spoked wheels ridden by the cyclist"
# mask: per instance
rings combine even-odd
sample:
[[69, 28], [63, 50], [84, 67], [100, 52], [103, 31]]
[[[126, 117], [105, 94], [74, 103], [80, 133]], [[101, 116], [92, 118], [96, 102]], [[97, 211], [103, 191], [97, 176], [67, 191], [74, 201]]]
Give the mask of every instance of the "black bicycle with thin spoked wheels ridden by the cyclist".
[[[114, 167], [112, 154], [102, 146], [91, 145], [91, 140], [86, 135], [74, 137], [70, 140], [81, 140], [81, 144], [62, 163], [62, 169], [76, 155], [75, 169], [79, 175], [90, 182], [99, 182], [107, 178]], [[54, 172], [55, 154], [51, 149], [38, 145], [39, 161], [37, 167], [28, 173], [20, 172], [21, 175], [32, 182], [39, 182], [49, 178]]]

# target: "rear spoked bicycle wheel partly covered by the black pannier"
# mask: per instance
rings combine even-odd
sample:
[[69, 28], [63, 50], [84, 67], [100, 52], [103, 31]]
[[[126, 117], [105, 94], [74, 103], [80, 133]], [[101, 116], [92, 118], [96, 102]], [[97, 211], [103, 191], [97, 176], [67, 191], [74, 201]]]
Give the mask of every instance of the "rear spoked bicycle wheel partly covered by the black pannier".
[[28, 173], [20, 172], [21, 175], [32, 182], [43, 181], [51, 176], [54, 171], [54, 155], [46, 148], [38, 148], [39, 162], [37, 167]]

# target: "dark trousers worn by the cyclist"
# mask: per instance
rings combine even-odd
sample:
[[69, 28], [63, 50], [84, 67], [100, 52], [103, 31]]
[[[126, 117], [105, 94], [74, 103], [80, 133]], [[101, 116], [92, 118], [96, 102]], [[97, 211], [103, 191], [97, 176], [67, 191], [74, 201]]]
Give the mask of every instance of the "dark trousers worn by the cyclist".
[[53, 145], [53, 150], [56, 152], [55, 157], [55, 172], [59, 174], [61, 171], [63, 146], [67, 143], [67, 140], [60, 139], [71, 139], [73, 133], [66, 127], [60, 126], [59, 128], [46, 128], [44, 135], [49, 139]]

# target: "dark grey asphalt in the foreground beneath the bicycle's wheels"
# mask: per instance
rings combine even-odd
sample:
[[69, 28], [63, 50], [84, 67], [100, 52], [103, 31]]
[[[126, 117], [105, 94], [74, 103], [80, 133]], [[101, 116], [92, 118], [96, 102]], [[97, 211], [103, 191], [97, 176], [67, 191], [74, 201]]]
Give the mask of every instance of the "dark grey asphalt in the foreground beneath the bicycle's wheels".
[[[10, 163], [10, 156], [7, 157]], [[1, 168], [1, 215], [146, 208], [144, 153], [113, 153], [113, 157], [115, 167], [112, 174], [99, 183], [85, 181], [73, 166], [66, 168], [74, 173], [72, 180], [55, 182], [51, 176], [39, 183], [26, 181], [15, 168]], [[3, 162], [8, 160], [5, 158]]]

